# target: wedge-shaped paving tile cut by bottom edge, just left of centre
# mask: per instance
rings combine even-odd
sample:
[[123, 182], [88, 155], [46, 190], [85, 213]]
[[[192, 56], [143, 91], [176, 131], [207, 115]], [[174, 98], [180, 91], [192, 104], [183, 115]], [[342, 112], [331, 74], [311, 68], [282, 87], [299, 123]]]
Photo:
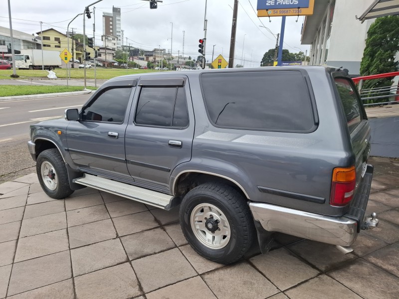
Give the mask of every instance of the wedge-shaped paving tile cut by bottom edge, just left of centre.
[[159, 289], [146, 294], [147, 299], [165, 298], [206, 298], [216, 299], [212, 291], [205, 285], [199, 277], [193, 277], [180, 283]]

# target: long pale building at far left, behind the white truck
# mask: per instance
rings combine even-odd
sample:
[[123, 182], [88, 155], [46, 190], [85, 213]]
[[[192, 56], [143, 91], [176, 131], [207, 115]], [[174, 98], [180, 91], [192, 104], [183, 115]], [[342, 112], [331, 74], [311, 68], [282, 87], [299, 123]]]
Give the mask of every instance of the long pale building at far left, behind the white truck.
[[[28, 34], [18, 30], [12, 30], [14, 38], [14, 50], [18, 54], [20, 50], [41, 49], [40, 40], [33, 34]], [[0, 46], [7, 46], [8, 53], [11, 53], [11, 37], [9, 28], [0, 26]]]

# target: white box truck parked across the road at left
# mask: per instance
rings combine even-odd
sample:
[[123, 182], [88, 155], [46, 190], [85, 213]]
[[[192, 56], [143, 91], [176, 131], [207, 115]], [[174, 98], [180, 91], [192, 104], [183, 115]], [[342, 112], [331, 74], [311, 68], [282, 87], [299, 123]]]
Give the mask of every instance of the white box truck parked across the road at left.
[[18, 69], [41, 69], [42, 65], [46, 70], [53, 70], [61, 67], [59, 51], [49, 50], [21, 50], [15, 54], [15, 67]]

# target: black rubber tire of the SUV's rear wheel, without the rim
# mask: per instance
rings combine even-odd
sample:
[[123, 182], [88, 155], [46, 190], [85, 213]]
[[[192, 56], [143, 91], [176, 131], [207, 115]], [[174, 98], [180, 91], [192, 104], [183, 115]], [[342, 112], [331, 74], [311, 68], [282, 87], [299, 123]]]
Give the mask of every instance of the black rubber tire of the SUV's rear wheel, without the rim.
[[[209, 244], [204, 245], [204, 241], [200, 241], [197, 237], [201, 235], [197, 233], [200, 231], [193, 230], [191, 221], [196, 212], [193, 215], [192, 213], [194, 210], [198, 211], [201, 205], [206, 204], [216, 207], [228, 221], [230, 236], [222, 248], [213, 249], [209, 248], [211, 246]], [[213, 216], [211, 217], [214, 219]], [[220, 225], [220, 221], [218, 223]], [[255, 235], [255, 227], [246, 199], [237, 190], [223, 183], [204, 183], [188, 192], [180, 206], [180, 224], [191, 247], [204, 258], [220, 264], [231, 264], [240, 259], [251, 247]], [[217, 232], [210, 231], [210, 233]]]

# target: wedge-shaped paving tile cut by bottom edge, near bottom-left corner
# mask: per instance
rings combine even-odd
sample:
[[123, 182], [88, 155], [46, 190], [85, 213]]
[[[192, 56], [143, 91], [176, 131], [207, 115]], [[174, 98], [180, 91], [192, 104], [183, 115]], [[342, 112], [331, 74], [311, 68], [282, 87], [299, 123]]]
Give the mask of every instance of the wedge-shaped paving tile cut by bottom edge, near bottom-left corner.
[[71, 279], [41, 287], [25, 293], [20, 293], [9, 299], [74, 299], [73, 283]]

